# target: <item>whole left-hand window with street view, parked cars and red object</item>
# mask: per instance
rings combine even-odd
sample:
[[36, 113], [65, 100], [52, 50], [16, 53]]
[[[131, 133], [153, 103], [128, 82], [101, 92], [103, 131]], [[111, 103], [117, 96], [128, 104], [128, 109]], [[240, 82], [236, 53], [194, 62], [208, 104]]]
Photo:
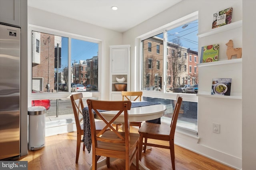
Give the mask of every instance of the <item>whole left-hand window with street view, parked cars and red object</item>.
[[[82, 36], [78, 39], [68, 33], [57, 35], [48, 29], [30, 29], [32, 94], [28, 96], [29, 102], [31, 106], [47, 106], [46, 116], [51, 119], [66, 115], [63, 119], [72, 120], [74, 113], [68, 96], [70, 92], [78, 92], [72, 86], [82, 84], [86, 92], [99, 90], [100, 41], [90, 41]], [[86, 92], [83, 96], [90, 97], [91, 94]]]

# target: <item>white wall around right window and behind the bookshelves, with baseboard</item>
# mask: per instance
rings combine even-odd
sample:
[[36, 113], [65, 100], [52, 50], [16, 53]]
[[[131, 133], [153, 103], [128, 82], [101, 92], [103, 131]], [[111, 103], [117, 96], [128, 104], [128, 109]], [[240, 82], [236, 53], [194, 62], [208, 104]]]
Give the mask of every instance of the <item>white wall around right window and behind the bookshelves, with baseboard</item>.
[[[168, 10], [154, 16], [153, 18], [137, 25], [124, 33], [124, 43], [131, 45], [131, 73], [139, 75], [139, 41], [138, 37], [147, 33], [158, 31], [159, 27], [171, 23], [179, 18], [198, 11], [199, 33], [208, 31], [212, 27], [213, 14], [233, 7], [232, 22], [242, 20], [242, 0], [183, 0]], [[155, 34], [156, 35], [156, 34]], [[242, 45], [242, 29], [238, 29], [228, 36], [238, 42], [237, 47]], [[224, 44], [226, 40], [220, 36], [214, 40], [199, 39], [199, 47], [206, 42], [220, 41]], [[224, 50], [226, 51], [226, 50]], [[225, 52], [221, 53], [225, 55]], [[244, 56], [244, 54], [243, 54]], [[134, 64], [135, 63], [135, 64]], [[134, 68], [133, 68], [134, 67]], [[200, 73], [199, 73], [200, 74]], [[240, 75], [241, 76], [241, 75]], [[139, 77], [131, 76], [130, 89], [139, 89]], [[198, 99], [199, 103], [204, 102]], [[225, 102], [225, 100], [220, 101]], [[210, 107], [208, 107], [210, 106]], [[214, 160], [227, 164], [236, 169], [242, 168], [242, 102], [232, 100], [227, 102], [226, 107], [218, 109], [211, 108], [211, 104], [198, 106], [198, 137], [199, 140], [176, 132], [175, 143], [187, 149], [198, 152]], [[220, 134], [212, 133], [212, 123], [220, 123]]]

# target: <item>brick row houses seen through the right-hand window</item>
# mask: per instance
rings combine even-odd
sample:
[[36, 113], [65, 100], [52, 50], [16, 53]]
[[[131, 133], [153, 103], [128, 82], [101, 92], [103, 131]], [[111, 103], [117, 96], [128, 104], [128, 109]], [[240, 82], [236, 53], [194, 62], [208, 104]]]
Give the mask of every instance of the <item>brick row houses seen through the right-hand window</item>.
[[[163, 39], [150, 37], [143, 41], [144, 90], [162, 90], [164, 49]], [[166, 90], [180, 84], [198, 83], [198, 53], [178, 44], [167, 42]]]

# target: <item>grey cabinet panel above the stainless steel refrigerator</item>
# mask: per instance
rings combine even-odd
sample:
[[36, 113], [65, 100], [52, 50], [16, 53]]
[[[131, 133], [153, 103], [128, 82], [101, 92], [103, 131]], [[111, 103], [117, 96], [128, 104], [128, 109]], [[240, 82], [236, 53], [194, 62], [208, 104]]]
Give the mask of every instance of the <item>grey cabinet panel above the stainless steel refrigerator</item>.
[[20, 26], [20, 0], [0, 0], [0, 22]]

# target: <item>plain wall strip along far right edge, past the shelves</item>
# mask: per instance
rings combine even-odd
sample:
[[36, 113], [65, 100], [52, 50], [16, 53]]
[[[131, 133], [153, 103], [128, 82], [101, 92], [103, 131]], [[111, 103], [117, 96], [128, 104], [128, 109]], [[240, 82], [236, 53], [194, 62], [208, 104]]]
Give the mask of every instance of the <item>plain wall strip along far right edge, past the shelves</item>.
[[256, 167], [256, 57], [255, 57], [255, 16], [256, 1], [243, 0], [243, 94], [242, 94], [242, 168], [253, 170]]

